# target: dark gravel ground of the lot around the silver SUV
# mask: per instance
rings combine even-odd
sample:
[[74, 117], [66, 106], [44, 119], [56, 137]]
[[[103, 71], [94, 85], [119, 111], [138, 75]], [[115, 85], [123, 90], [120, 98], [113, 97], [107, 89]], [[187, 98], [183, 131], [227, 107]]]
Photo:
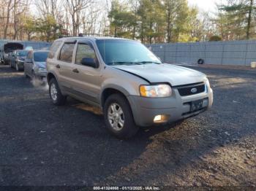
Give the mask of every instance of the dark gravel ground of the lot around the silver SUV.
[[47, 87], [0, 66], [0, 185], [256, 186], [256, 70], [195, 69], [211, 110], [119, 141], [98, 109], [53, 106]]

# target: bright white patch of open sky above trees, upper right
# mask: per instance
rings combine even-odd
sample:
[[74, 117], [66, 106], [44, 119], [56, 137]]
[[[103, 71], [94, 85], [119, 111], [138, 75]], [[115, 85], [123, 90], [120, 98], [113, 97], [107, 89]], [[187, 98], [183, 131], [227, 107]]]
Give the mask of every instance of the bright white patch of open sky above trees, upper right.
[[203, 11], [214, 12], [216, 10], [216, 3], [220, 4], [221, 1], [224, 2], [225, 0], [188, 0], [189, 5], [196, 5], [199, 9]]

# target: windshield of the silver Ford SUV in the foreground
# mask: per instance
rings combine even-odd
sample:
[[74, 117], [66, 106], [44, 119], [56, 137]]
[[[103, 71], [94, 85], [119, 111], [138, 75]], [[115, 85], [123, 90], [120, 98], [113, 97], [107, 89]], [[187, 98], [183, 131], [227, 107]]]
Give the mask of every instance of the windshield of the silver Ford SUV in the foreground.
[[140, 42], [118, 39], [97, 40], [97, 47], [107, 65], [161, 63]]

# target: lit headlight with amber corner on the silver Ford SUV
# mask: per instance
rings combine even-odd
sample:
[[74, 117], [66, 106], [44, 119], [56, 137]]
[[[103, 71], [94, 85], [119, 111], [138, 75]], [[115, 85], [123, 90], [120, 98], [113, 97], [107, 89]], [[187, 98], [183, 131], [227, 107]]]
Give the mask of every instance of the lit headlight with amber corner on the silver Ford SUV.
[[151, 98], [165, 98], [172, 95], [170, 85], [140, 85], [140, 95]]

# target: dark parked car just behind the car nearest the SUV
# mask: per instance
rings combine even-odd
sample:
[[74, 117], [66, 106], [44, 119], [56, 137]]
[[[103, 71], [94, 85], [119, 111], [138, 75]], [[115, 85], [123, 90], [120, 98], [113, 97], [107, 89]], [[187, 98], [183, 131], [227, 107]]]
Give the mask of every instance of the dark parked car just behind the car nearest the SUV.
[[17, 71], [22, 71], [24, 69], [24, 62], [28, 53], [29, 50], [15, 50], [12, 52], [12, 56], [10, 57], [11, 68], [16, 69]]

